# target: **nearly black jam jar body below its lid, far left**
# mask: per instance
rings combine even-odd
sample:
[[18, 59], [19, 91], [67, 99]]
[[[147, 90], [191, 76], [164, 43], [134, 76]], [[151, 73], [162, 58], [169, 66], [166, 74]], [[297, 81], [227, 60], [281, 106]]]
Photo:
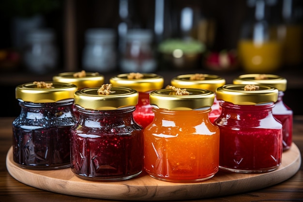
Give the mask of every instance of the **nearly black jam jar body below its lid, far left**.
[[76, 123], [73, 103], [19, 102], [21, 113], [13, 122], [13, 159], [20, 167], [70, 167], [70, 129]]

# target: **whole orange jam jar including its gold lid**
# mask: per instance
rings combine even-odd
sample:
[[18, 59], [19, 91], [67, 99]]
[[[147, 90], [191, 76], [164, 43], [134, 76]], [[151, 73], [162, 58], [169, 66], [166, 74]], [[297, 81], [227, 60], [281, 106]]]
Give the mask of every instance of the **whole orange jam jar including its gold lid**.
[[169, 182], [198, 182], [219, 170], [219, 128], [208, 117], [214, 93], [186, 89], [150, 93], [154, 119], [144, 129], [144, 169]]

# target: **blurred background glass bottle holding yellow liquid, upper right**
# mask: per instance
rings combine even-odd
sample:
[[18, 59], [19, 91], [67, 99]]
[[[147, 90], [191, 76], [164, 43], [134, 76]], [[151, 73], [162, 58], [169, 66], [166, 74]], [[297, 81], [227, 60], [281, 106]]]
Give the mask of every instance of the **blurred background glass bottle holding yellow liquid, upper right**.
[[272, 73], [282, 65], [282, 43], [270, 20], [275, 3], [276, 0], [247, 0], [254, 17], [243, 24], [238, 44], [239, 59], [247, 73]]

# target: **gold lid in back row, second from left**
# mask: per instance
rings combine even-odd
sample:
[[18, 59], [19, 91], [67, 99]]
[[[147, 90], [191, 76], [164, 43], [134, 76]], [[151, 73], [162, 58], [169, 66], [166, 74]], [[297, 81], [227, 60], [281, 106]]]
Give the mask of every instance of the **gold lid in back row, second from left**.
[[113, 87], [126, 87], [135, 89], [138, 92], [149, 92], [152, 90], [162, 89], [164, 78], [152, 73], [136, 73], [142, 74], [142, 78], [128, 78], [132, 73], [120, 74], [109, 79]]

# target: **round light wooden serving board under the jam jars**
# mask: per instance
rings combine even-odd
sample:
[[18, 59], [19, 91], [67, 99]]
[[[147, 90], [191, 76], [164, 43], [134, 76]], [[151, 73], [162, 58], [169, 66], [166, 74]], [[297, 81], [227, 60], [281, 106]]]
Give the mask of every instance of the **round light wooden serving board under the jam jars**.
[[61, 194], [129, 201], [172, 201], [219, 197], [278, 184], [293, 176], [301, 166], [298, 147], [283, 153], [281, 166], [261, 174], [219, 171], [209, 180], [197, 183], [170, 183], [154, 179], [145, 172], [129, 180], [93, 182], [78, 178], [70, 168], [34, 171], [20, 168], [13, 161], [12, 148], [6, 156], [9, 173], [19, 182]]

